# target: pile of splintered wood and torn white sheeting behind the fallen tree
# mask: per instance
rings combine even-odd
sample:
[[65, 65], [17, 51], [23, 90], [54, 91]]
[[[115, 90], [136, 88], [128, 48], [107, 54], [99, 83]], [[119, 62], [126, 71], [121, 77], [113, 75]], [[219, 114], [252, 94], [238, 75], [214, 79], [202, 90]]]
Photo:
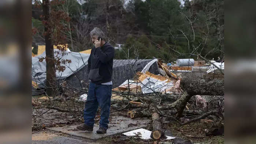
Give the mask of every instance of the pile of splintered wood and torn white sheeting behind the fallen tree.
[[[183, 61], [182, 61], [183, 60]], [[184, 61], [188, 60], [186, 64]], [[182, 62], [183, 63], [182, 63]], [[190, 62], [193, 61], [193, 62]], [[159, 75], [155, 75], [146, 70], [154, 63], [157, 62]], [[219, 68], [224, 69], [224, 62], [215, 62], [215, 65], [219, 66]], [[191, 64], [190, 64], [191, 63]], [[182, 65], [182, 66], [179, 66]], [[184, 66], [187, 65], [187, 66]], [[190, 66], [193, 65], [193, 66]], [[141, 72], [137, 72], [133, 79], [127, 79], [125, 82], [120, 84], [119, 87], [112, 89], [113, 91], [129, 91], [129, 92], [142, 92], [143, 94], [148, 94], [152, 92], [160, 92], [162, 94], [177, 94], [181, 95], [181, 88], [179, 86], [180, 80], [182, 78], [182, 73], [173, 73], [182, 72], [182, 71], [191, 71], [197, 67], [207, 67], [207, 71], [205, 72], [206, 77], [212, 75], [214, 78], [221, 75], [224, 77], [224, 74], [221, 73], [214, 65], [206, 64], [205, 61], [194, 61], [193, 59], [178, 59], [177, 64], [168, 65], [163, 63], [161, 60], [155, 59], [149, 62], [145, 68]], [[205, 77], [205, 76], [204, 76]], [[222, 78], [223, 78], [222, 77]]]

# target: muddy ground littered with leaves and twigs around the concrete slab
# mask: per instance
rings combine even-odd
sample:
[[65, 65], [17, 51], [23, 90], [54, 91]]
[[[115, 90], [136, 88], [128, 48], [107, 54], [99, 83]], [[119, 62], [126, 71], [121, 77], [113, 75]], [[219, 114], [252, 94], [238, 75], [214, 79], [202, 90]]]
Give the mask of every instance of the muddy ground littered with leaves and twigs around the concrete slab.
[[[42, 95], [44, 96], [44, 95]], [[219, 125], [218, 122], [203, 119], [192, 122], [188, 125], [179, 126], [177, 123], [163, 118], [163, 129], [169, 136], [179, 137], [179, 139], [168, 141], [142, 140], [140, 137], [129, 137], [117, 134], [104, 137], [97, 141], [69, 136], [63, 133], [51, 132], [45, 129], [52, 126], [80, 125], [83, 124], [82, 109], [83, 103], [74, 101], [50, 101], [49, 99], [38, 99], [42, 96], [32, 97], [32, 143], [224, 143], [224, 136], [205, 136], [205, 129], [211, 130]], [[55, 106], [66, 112], [45, 108], [47, 105]], [[111, 110], [115, 110], [112, 109]], [[130, 109], [132, 110], [132, 109]], [[110, 114], [110, 121], [115, 116], [126, 116], [129, 109], [116, 111]], [[97, 112], [95, 123], [100, 120], [100, 111]], [[127, 124], [128, 125], [128, 124]], [[148, 130], [152, 130], [149, 125]], [[125, 130], [124, 130], [125, 131]], [[59, 141], [59, 142], [58, 142]]]

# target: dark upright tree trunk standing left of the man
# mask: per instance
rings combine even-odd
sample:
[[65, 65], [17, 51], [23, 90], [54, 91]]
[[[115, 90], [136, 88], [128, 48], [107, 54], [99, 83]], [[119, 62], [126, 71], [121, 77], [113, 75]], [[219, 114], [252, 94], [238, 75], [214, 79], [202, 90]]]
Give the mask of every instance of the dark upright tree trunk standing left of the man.
[[44, 12], [44, 31], [45, 31], [45, 61], [46, 61], [46, 93], [53, 96], [53, 88], [55, 87], [56, 73], [54, 51], [51, 40], [52, 30], [50, 24], [50, 1], [42, 0], [42, 10]]

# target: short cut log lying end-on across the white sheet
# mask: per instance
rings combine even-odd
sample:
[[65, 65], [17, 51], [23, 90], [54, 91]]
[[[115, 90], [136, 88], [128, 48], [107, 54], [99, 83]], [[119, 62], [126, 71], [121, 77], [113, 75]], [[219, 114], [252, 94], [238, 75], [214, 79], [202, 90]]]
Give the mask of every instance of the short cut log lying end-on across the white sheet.
[[157, 113], [153, 113], [152, 114], [152, 126], [153, 126], [153, 130], [151, 132], [150, 137], [152, 139], [166, 139], [166, 136], [164, 135], [164, 131], [162, 129], [162, 122], [160, 119], [159, 114]]

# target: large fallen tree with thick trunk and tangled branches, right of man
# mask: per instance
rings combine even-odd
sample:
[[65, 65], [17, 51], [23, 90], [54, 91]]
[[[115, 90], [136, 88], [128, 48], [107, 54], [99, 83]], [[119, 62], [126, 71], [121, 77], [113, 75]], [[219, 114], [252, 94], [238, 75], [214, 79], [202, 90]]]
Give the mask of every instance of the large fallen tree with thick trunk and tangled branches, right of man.
[[[190, 99], [194, 95], [224, 95], [224, 81], [222, 79], [209, 80], [182, 77], [180, 86], [183, 90], [183, 94], [181, 96], [161, 94], [159, 92], [154, 91], [151, 94], [130, 93], [125, 91], [116, 93], [124, 97], [132, 95], [135, 98], [137, 98], [136, 101], [141, 101], [132, 102], [130, 103], [130, 105], [123, 107], [123, 109], [142, 109], [139, 111], [130, 110], [128, 112], [130, 118], [151, 117], [152, 113], [157, 112], [163, 117], [169, 117], [172, 120], [178, 122], [178, 119], [183, 116], [194, 118], [194, 120], [198, 120], [200, 118], [204, 118], [207, 115], [217, 114], [215, 111], [207, 113], [207, 115], [204, 115], [206, 111], [201, 111], [200, 113], [193, 113], [189, 112], [188, 110], [184, 112], [184, 109], [188, 102], [192, 102], [192, 100]], [[175, 115], [175, 117], [171, 115]], [[181, 124], [180, 122], [178, 123]]]

